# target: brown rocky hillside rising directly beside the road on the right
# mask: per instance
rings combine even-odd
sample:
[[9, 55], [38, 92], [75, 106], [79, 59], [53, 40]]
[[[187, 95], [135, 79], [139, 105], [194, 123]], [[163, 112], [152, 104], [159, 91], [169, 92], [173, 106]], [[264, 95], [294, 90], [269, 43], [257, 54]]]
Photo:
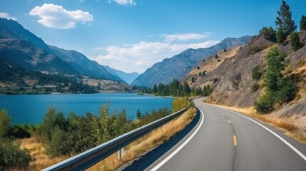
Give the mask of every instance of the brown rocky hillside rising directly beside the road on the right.
[[[226, 52], [218, 53], [218, 58], [210, 56], [200, 61], [192, 71], [187, 73], [182, 81], [187, 81], [192, 88], [204, 88], [210, 85], [213, 92], [207, 102], [226, 105], [245, 110], [253, 110], [255, 101], [266, 92], [264, 76], [267, 71], [265, 56], [270, 47], [276, 47], [285, 55], [285, 70], [282, 75], [290, 81], [297, 82], [297, 94], [290, 102], [277, 102], [272, 113], [267, 118], [285, 118], [297, 127], [305, 129], [306, 119], [306, 31], [298, 33], [302, 46], [294, 51], [291, 40], [277, 44], [275, 34], [253, 36], [245, 46], [230, 48]], [[263, 73], [258, 80], [253, 79], [252, 70], [260, 67]], [[198, 69], [199, 68], [199, 69]], [[203, 72], [205, 74], [203, 74]], [[201, 74], [199, 74], [201, 73]], [[253, 88], [257, 85], [257, 88]], [[286, 93], [290, 89], [286, 89]], [[272, 98], [267, 99], [267, 103]], [[287, 121], [286, 121], [287, 122]], [[305, 131], [304, 131], [304, 135]]]

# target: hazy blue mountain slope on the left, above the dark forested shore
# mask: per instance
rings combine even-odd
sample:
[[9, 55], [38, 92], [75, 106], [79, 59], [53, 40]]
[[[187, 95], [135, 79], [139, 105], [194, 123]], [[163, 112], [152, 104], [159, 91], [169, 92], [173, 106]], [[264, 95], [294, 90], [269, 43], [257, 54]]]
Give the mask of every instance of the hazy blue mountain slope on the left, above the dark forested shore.
[[32, 71], [131, 82], [131, 79], [125, 81], [82, 53], [49, 46], [18, 22], [3, 18], [0, 18], [0, 60]]

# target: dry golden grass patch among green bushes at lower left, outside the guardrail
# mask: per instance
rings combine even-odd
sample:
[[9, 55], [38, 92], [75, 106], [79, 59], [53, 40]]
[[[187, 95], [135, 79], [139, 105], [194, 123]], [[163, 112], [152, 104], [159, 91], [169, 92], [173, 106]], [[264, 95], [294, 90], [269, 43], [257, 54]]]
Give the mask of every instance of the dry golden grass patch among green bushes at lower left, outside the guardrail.
[[21, 140], [21, 149], [29, 149], [31, 157], [34, 157], [34, 162], [30, 163], [29, 170], [42, 170], [46, 167], [49, 167], [57, 162], [61, 162], [68, 157], [55, 157], [50, 158], [46, 155], [46, 149], [39, 142], [36, 136], [31, 138], [26, 138]]

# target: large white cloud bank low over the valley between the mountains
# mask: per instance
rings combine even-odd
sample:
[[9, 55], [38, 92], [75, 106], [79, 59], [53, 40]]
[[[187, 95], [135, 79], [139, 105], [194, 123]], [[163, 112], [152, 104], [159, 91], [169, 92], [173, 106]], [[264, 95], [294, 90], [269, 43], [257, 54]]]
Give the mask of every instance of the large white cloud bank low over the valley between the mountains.
[[173, 44], [170, 42], [148, 42], [119, 46], [108, 46], [106, 48], [93, 48], [94, 51], [105, 51], [104, 55], [91, 57], [101, 65], [126, 71], [128, 73], [143, 73], [154, 63], [170, 58], [188, 48], [207, 48], [220, 41], [205, 41], [203, 43]]

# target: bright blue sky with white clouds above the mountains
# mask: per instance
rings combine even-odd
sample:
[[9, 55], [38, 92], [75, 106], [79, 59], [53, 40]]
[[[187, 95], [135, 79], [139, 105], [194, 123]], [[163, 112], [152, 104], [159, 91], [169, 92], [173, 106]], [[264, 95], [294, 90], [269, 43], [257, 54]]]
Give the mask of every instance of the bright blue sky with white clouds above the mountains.
[[[47, 44], [103, 66], [143, 73], [188, 48], [275, 28], [281, 0], [0, 0], [13, 19]], [[287, 0], [300, 28], [306, 0]]]

